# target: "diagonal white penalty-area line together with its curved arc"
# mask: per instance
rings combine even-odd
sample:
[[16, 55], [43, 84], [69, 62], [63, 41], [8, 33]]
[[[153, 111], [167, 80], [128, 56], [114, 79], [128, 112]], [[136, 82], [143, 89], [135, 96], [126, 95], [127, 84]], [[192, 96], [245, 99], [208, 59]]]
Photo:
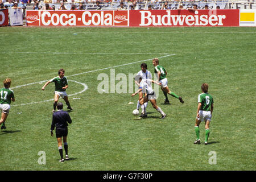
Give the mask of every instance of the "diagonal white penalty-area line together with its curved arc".
[[[164, 57], [168, 57], [168, 56], [174, 56], [174, 55], [175, 55], [175, 53], [174, 53], [174, 54], [171, 54], [171, 55], [166, 55], [166, 56], [158, 57], [158, 59], [164, 58]], [[102, 71], [102, 70], [105, 70], [105, 69], [123, 67], [123, 66], [126, 66], [126, 65], [135, 64], [135, 63], [141, 63], [141, 62], [145, 62], [145, 61], [149, 61], [149, 60], [152, 60], [152, 58], [151, 58], [151, 59], [146, 59], [146, 60], [141, 60], [141, 61], [135, 61], [135, 62], [133, 62], [133, 63], [115, 65], [115, 66], [113, 66], [113, 67], [102, 68], [102, 69], [95, 69], [95, 70], [88, 71], [88, 72], [77, 73], [77, 74], [74, 74], [74, 75], [69, 75], [69, 76], [67, 76], [67, 77], [82, 75], [82, 74], [85, 74], [85, 73], [92, 73], [92, 72]], [[38, 81], [38, 82], [32, 82], [32, 83], [30, 83], [30, 84], [24, 84], [24, 85], [18, 85], [18, 86], [15, 86], [15, 87], [13, 87], [13, 88], [10, 88], [10, 89], [20, 88], [20, 87], [22, 87], [22, 86], [28, 86], [28, 85], [33, 85], [33, 84], [39, 84], [39, 83], [46, 82], [46, 81], [49, 81], [49, 80]], [[84, 86], [84, 89], [83, 89], [81, 92], [77, 92], [77, 93], [75, 93], [75, 94], [70, 94], [69, 96], [75, 96], [75, 95], [77, 95], [77, 94], [80, 94], [80, 93], [82, 93], [82, 92], [85, 92], [85, 90], [88, 89], [88, 86], [87, 86], [86, 84], [83, 84], [83, 83], [78, 82], [78, 81], [75, 81], [75, 80], [69, 80], [69, 81], [73, 81], [73, 82], [76, 82], [76, 83], [81, 84], [81, 85]], [[42, 102], [49, 102], [49, 101], [53, 101], [53, 100], [54, 100], [54, 99], [46, 100], [46, 101], [39, 101], [39, 102], [30, 102], [30, 103], [27, 103], [27, 104], [12, 105], [12, 106], [23, 106], [23, 105], [39, 104], [39, 103], [42, 103]]]

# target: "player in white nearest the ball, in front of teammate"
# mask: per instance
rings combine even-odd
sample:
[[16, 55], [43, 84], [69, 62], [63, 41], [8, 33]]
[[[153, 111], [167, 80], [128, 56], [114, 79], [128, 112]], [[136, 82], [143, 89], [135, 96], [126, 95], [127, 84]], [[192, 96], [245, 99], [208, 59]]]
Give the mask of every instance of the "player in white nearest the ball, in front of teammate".
[[[162, 119], [166, 118], [166, 114], [162, 111], [160, 107], [156, 105], [156, 95], [154, 90], [152, 89], [151, 82], [161, 85], [158, 82], [151, 80], [151, 79], [142, 79], [141, 77], [139, 78], [139, 89], [137, 92], [131, 94], [131, 96], [135, 96], [137, 93], [141, 92], [141, 90], [145, 89], [146, 90], [146, 96], [144, 96], [139, 102], [140, 104], [144, 104], [145, 102], [148, 102], [150, 100], [152, 106], [159, 111], [159, 113], [162, 115]], [[142, 108], [143, 109], [143, 108]], [[141, 115], [141, 117], [147, 117], [147, 114]]]

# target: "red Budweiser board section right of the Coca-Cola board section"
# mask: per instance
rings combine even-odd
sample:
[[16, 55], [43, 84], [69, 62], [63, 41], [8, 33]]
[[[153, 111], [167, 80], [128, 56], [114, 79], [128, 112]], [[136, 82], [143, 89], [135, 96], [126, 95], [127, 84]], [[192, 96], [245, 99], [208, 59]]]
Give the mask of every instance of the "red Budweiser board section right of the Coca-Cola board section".
[[239, 10], [140, 10], [130, 18], [130, 26], [239, 26]]

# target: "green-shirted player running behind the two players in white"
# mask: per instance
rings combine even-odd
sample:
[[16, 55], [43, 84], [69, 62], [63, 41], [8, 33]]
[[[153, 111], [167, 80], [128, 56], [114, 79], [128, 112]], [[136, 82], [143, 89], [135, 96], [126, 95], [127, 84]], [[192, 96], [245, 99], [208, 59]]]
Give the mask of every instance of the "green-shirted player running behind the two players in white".
[[169, 100], [167, 96], [167, 93], [168, 93], [172, 97], [175, 97], [178, 100], [180, 100], [180, 102], [183, 104], [184, 101], [182, 100], [182, 98], [177, 96], [174, 92], [171, 92], [170, 89], [168, 88], [167, 86], [168, 81], [166, 78], [167, 72], [166, 72], [166, 69], [164, 69], [162, 66], [159, 65], [158, 58], [153, 59], [152, 63], [155, 67], [155, 73], [158, 74], [158, 82], [162, 84], [161, 89], [163, 91], [164, 96], [166, 97], [166, 99], [164, 100], [164, 103], [169, 104]]

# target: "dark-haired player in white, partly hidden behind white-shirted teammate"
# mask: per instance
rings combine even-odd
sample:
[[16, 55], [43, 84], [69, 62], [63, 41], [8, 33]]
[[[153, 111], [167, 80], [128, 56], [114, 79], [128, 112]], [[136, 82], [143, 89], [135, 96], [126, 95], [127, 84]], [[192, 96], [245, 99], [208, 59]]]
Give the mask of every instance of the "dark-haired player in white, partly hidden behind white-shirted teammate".
[[[150, 71], [147, 70], [146, 63], [141, 64], [141, 71], [139, 71], [137, 73], [137, 75], [135, 76], [135, 84], [137, 84], [139, 86], [137, 77], [142, 77], [142, 79], [152, 79], [152, 75], [151, 75]], [[139, 107], [142, 108], [142, 112], [141, 112], [142, 115], [146, 114], [146, 107], [147, 107], [147, 103], [148, 103], [148, 102], [145, 102], [142, 105], [139, 103], [139, 101], [143, 98], [143, 94], [144, 94], [144, 96], [146, 96], [145, 90], [142, 90], [141, 92], [139, 92], [139, 100], [137, 102], [137, 107], [136, 107], [137, 110], [139, 110]]]

